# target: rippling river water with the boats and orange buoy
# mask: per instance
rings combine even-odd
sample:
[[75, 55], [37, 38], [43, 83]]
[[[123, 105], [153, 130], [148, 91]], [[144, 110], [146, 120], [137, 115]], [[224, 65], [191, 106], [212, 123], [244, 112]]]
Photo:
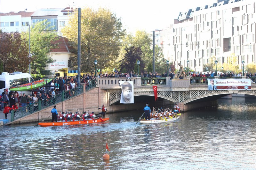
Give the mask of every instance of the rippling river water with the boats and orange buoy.
[[104, 124], [2, 126], [0, 169], [256, 169], [253, 101], [219, 100], [152, 125], [136, 124], [143, 111], [133, 111]]

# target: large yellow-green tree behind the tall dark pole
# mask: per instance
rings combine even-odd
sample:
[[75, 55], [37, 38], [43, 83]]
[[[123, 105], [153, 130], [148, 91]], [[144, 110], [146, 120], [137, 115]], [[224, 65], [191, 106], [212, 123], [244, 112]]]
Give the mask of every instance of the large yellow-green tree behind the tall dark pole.
[[[70, 16], [68, 26], [61, 32], [69, 41], [74, 42], [77, 54], [77, 25], [78, 11]], [[97, 59], [98, 67], [115, 68], [119, 55], [118, 45], [124, 36], [122, 22], [116, 14], [107, 9], [100, 8], [94, 11], [91, 8], [81, 10], [81, 71], [94, 69], [93, 61]], [[72, 58], [74, 67], [77, 67], [77, 55]]]

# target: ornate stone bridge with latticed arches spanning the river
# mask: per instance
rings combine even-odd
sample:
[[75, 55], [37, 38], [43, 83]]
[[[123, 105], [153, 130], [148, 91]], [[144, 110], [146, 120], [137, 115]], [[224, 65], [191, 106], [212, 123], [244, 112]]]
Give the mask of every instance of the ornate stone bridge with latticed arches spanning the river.
[[[215, 77], [219, 78], [219, 77]], [[245, 77], [243, 77], [245, 78]], [[208, 83], [205, 78], [190, 78], [172, 80], [166, 78], [98, 78], [98, 87], [107, 92], [108, 106], [121, 99], [121, 86], [119, 81], [133, 81], [134, 97], [154, 96], [152, 85], [157, 85], [157, 96], [180, 105], [188, 105], [195, 100], [203, 101], [204, 98], [217, 98], [229, 94], [249, 94], [256, 96], [255, 79], [252, 79], [251, 90], [208, 90]], [[182, 106], [181, 106], [182, 107]], [[185, 108], [184, 108], [185, 109]], [[187, 109], [185, 109], [187, 110]]]

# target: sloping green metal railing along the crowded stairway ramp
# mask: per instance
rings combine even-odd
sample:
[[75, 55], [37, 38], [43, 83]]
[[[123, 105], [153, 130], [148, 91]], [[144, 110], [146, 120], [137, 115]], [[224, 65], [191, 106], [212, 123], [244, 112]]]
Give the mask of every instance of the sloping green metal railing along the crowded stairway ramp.
[[55, 95], [55, 97], [51, 97], [46, 100], [39, 100], [37, 103], [31, 103], [27, 106], [19, 107], [17, 110], [11, 111], [11, 122], [15, 119], [30, 115], [44, 108], [53, 106], [59, 102], [75, 97], [76, 95], [81, 93], [83, 93], [83, 86], [79, 85], [76, 88], [68, 90], [66, 92], [62, 91], [59, 94]]

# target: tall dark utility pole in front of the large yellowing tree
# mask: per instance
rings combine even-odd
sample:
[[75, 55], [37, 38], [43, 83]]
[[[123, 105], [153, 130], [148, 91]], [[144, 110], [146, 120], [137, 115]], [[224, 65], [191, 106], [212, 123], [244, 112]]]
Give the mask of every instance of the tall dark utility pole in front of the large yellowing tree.
[[78, 36], [77, 36], [77, 82], [80, 85], [81, 77], [81, 8], [78, 8]]

